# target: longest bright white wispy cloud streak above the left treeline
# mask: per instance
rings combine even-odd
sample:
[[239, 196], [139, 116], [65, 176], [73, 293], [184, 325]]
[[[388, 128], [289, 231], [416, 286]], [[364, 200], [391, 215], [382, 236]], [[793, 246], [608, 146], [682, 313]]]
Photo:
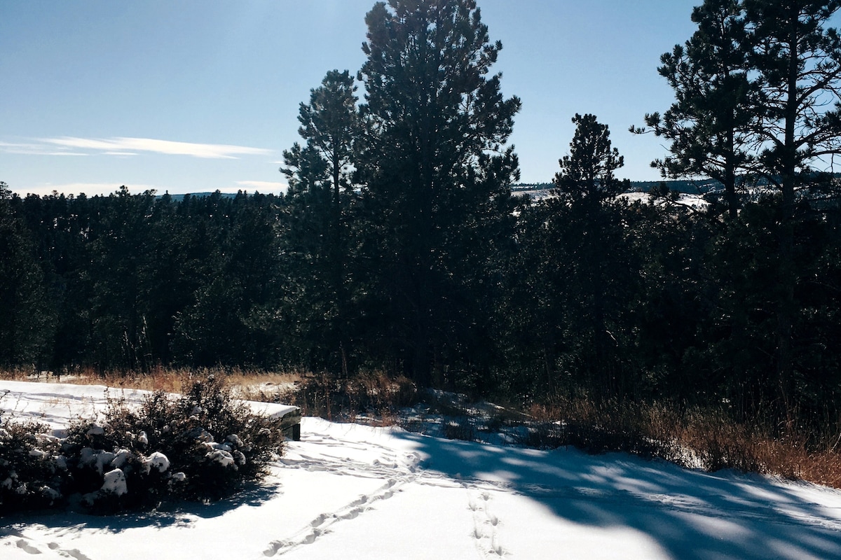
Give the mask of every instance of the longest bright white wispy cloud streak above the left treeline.
[[250, 148], [248, 146], [196, 144], [193, 142], [175, 142], [172, 140], [151, 138], [116, 137], [110, 139], [90, 139], [62, 136], [61, 138], [40, 139], [40, 142], [65, 149], [85, 149], [91, 150], [94, 153], [99, 152], [109, 155], [132, 155], [138, 152], [151, 152], [155, 154], [189, 155], [195, 158], [236, 159], [240, 155], [267, 155], [273, 153], [271, 149]]

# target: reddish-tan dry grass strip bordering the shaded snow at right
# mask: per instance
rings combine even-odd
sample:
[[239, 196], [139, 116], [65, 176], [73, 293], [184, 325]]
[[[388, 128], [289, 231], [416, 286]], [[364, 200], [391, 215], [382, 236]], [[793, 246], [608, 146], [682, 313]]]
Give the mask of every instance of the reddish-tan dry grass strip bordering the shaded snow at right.
[[626, 451], [664, 458], [685, 467], [710, 471], [733, 468], [841, 488], [841, 426], [816, 435], [779, 430], [769, 422], [734, 422], [723, 411], [679, 411], [662, 404], [608, 402], [587, 399], [535, 405], [531, 415], [549, 428], [536, 440], [574, 445], [591, 453]]

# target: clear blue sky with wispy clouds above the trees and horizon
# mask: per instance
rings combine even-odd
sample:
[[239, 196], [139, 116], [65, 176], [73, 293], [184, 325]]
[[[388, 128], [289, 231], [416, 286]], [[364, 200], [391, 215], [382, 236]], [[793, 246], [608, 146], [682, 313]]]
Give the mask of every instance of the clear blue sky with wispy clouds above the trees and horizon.
[[[521, 180], [551, 181], [574, 113], [611, 127], [626, 165], [659, 177], [660, 139], [627, 132], [673, 94], [659, 56], [701, 0], [479, 0], [495, 71], [521, 97]], [[373, 0], [0, 2], [0, 181], [47, 194], [279, 191], [300, 102], [364, 61]]]

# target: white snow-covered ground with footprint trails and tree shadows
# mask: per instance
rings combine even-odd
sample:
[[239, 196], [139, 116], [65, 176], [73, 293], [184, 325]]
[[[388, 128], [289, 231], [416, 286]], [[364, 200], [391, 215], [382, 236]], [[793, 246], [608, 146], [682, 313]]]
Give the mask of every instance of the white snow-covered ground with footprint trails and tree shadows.
[[[0, 408], [61, 428], [95, 413], [103, 391], [0, 381]], [[245, 495], [115, 517], [3, 517], [0, 557], [841, 558], [833, 489], [396, 427], [302, 428]]]

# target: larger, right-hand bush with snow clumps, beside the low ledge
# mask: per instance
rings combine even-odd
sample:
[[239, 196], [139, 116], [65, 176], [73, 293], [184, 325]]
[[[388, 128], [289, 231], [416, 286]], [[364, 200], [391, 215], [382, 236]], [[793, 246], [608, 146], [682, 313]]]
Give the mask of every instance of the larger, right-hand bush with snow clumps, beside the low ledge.
[[279, 420], [256, 415], [211, 378], [137, 407], [112, 400], [102, 422], [70, 427], [64, 451], [82, 503], [108, 513], [167, 496], [219, 500], [260, 479], [282, 445]]

